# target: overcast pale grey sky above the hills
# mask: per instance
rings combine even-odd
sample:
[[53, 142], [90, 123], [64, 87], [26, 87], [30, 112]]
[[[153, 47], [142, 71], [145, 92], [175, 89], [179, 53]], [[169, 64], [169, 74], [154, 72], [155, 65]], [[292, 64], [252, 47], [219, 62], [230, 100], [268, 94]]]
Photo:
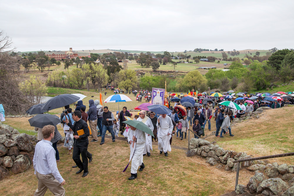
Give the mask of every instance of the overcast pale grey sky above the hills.
[[[2, 0], [3, 1], [3, 0]], [[294, 48], [294, 1], [4, 1], [16, 51]]]

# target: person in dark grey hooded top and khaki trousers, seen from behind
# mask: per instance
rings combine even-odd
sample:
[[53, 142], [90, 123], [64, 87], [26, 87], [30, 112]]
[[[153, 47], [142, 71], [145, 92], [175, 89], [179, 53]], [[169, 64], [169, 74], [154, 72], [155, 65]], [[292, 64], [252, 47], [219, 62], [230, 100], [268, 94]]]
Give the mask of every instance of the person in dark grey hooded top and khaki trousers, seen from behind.
[[89, 110], [87, 112], [88, 114], [88, 120], [90, 124], [90, 129], [92, 132], [93, 140], [91, 142], [98, 142], [98, 133], [97, 133], [97, 108], [94, 103], [93, 99], [89, 100]]

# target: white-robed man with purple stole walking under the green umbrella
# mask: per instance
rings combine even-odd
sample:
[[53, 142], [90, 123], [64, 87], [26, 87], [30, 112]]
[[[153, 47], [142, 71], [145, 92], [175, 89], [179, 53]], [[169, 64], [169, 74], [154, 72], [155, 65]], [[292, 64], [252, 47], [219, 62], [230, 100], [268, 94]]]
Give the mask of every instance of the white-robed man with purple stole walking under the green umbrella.
[[146, 142], [145, 133], [133, 126], [130, 126], [128, 131], [128, 143], [130, 144], [130, 149], [132, 148], [134, 142], [136, 146], [132, 158], [131, 177], [128, 178], [129, 180], [137, 178], [138, 167], [143, 163], [143, 151]]

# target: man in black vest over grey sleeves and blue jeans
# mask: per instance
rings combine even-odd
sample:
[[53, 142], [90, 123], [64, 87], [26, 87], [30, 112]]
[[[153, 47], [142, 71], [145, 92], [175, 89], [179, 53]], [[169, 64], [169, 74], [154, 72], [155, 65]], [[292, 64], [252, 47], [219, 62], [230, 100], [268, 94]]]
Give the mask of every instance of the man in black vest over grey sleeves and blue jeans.
[[[103, 110], [103, 111], [102, 111]], [[108, 107], [105, 106], [99, 110], [98, 115], [103, 115], [103, 128], [102, 128], [102, 137], [100, 145], [104, 144], [104, 138], [106, 130], [111, 133], [112, 142], [115, 142], [115, 136], [113, 132], [113, 120], [115, 120], [113, 113], [108, 110]]]

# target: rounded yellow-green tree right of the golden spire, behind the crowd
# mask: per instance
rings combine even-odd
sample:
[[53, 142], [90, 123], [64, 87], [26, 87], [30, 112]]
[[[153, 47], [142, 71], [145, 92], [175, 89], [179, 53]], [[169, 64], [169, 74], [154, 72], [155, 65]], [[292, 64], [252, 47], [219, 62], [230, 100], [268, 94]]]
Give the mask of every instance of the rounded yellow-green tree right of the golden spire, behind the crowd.
[[176, 87], [179, 88], [180, 91], [186, 91], [189, 89], [196, 90], [202, 83], [207, 83], [207, 80], [199, 71], [194, 70], [187, 73], [183, 79], [178, 80]]

